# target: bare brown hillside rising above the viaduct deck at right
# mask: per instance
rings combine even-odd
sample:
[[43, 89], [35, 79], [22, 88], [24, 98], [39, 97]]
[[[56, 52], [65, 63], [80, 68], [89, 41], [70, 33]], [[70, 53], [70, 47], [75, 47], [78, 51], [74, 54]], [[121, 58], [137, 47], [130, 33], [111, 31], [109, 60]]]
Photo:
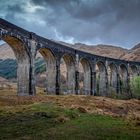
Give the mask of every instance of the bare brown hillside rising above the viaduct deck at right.
[[86, 44], [76, 43], [72, 45], [65, 42], [59, 42], [59, 43], [95, 55], [101, 55], [101, 56], [129, 60], [129, 61], [140, 61], [140, 43], [129, 50], [117, 46], [103, 45], [103, 44], [86, 45]]

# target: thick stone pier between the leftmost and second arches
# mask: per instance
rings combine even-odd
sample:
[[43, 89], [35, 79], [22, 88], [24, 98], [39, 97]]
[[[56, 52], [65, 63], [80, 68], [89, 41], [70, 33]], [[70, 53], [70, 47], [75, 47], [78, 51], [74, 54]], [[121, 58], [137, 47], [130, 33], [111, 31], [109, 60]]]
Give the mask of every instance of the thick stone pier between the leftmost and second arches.
[[[20, 44], [21, 45], [21, 44]], [[22, 48], [22, 46], [21, 46]], [[34, 61], [36, 55], [35, 41], [30, 40], [28, 43], [28, 51], [18, 52], [17, 48], [13, 48], [17, 58], [17, 93], [19, 96], [35, 95], [35, 76]]]

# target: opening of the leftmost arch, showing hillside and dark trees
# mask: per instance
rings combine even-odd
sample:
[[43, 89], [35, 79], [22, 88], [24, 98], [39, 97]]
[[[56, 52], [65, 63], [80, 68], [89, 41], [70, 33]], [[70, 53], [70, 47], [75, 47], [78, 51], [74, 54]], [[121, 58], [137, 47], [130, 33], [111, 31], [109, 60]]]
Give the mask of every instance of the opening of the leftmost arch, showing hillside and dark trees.
[[0, 41], [0, 93], [5, 91], [17, 92], [17, 60], [11, 47]]

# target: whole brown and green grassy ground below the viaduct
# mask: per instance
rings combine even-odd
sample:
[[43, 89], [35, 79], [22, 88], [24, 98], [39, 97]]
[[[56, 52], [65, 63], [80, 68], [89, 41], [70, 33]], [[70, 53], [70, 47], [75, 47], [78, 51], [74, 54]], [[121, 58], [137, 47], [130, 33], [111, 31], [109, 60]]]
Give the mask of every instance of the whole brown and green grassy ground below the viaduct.
[[0, 92], [0, 140], [139, 140], [139, 100]]

